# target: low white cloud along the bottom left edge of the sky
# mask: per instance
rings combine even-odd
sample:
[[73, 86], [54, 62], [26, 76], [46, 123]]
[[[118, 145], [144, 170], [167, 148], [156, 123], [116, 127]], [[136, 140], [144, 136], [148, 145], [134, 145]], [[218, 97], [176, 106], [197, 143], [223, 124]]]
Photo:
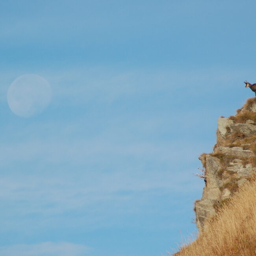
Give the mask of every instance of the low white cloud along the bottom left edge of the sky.
[[84, 256], [88, 248], [74, 243], [19, 244], [0, 247], [0, 256]]

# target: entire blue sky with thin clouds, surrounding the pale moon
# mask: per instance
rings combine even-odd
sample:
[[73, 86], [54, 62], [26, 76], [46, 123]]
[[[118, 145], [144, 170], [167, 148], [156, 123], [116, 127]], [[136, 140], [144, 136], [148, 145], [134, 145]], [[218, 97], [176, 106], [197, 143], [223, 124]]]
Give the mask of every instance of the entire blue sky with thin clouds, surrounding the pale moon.
[[[0, 256], [166, 255], [196, 232], [197, 158], [254, 96], [255, 8], [2, 0]], [[7, 104], [24, 74], [52, 87], [30, 118]]]

